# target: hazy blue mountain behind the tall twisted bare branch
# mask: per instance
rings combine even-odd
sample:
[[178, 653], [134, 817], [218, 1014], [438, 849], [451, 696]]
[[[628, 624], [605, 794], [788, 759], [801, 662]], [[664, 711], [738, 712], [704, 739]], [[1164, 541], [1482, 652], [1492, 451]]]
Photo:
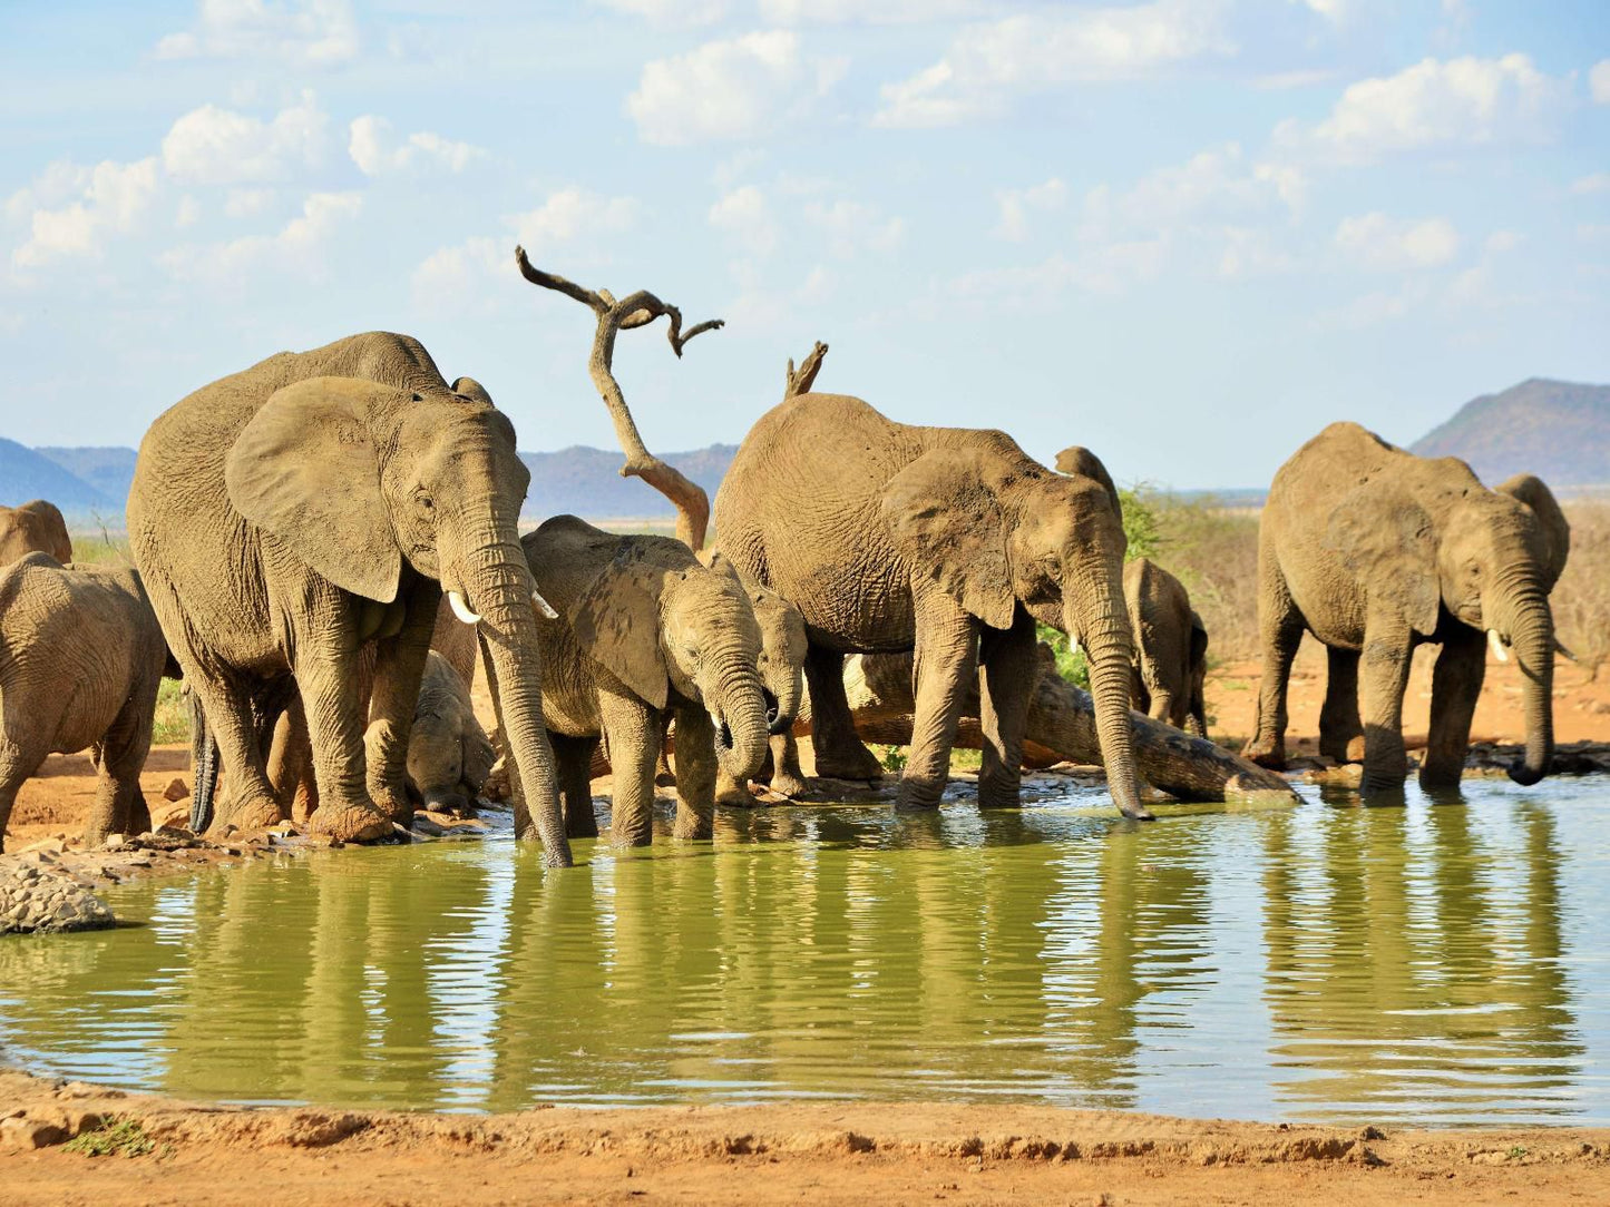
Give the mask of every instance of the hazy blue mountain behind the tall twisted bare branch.
[[[692, 452], [660, 454], [708, 491], [712, 502], [736, 444], [712, 444]], [[522, 452], [520, 460], [531, 470], [531, 488], [522, 515], [538, 520], [570, 512], [586, 520], [652, 520], [670, 518], [676, 509], [663, 494], [641, 478], [621, 478], [625, 460], [618, 449], [589, 449], [575, 444], [559, 452]]]

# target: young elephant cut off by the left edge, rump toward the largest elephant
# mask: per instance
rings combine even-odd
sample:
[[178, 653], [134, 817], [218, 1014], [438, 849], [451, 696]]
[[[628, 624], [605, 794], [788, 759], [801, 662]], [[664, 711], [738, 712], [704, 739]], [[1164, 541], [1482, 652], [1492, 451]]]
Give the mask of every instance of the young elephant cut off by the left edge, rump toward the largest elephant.
[[151, 829], [140, 769], [163, 676], [179, 666], [137, 571], [42, 552], [0, 570], [0, 851], [23, 782], [47, 755], [85, 747], [97, 787], [84, 843]]

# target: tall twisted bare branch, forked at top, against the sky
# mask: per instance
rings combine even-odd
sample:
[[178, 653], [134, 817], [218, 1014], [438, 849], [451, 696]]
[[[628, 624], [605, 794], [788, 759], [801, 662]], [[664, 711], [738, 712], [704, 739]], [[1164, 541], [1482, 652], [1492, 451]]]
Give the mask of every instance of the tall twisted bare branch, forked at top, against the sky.
[[592, 385], [597, 386], [604, 406], [609, 407], [610, 422], [615, 425], [615, 439], [620, 441], [621, 452], [626, 454], [626, 463], [620, 467], [620, 476], [642, 478], [649, 486], [670, 499], [676, 507], [676, 536], [697, 552], [704, 547], [705, 533], [710, 528], [710, 496], [705, 494], [699, 483], [689, 480], [681, 470], [667, 465], [644, 447], [642, 436], [638, 433], [638, 425], [631, 417], [631, 409], [626, 406], [626, 396], [615, 380], [615, 336], [623, 330], [630, 332], [636, 327], [647, 327], [660, 315], [665, 315], [670, 319], [670, 330], [665, 335], [671, 343], [671, 351], [681, 357], [683, 348], [689, 340], [704, 332], [720, 330], [724, 322], [721, 319], [710, 319], [683, 332], [683, 312], [660, 301], [647, 290], [639, 290], [621, 301], [615, 301], [615, 296], [609, 290], [586, 290], [552, 272], [543, 272], [526, 259], [525, 248], [514, 249], [514, 261], [520, 269], [520, 275], [533, 285], [541, 285], [544, 290], [554, 290], [555, 293], [564, 293], [567, 298], [575, 298], [597, 315], [597, 335], [592, 338], [592, 356], [588, 360], [588, 372], [592, 375]]

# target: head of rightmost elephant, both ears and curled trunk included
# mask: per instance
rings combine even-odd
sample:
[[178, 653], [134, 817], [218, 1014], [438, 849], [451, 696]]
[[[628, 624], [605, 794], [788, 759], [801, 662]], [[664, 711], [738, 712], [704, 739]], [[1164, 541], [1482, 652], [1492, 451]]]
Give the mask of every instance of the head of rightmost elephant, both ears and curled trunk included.
[[[1467, 472], [1468, 473], [1468, 472]], [[1517, 784], [1536, 784], [1554, 758], [1554, 589], [1571, 546], [1570, 525], [1538, 478], [1520, 475], [1489, 491], [1470, 476], [1441, 491], [1433, 520], [1426, 496], [1380, 475], [1341, 499], [1328, 541], [1365, 570], [1372, 604], [1391, 600], [1420, 636], [1436, 632], [1443, 612], [1486, 631], [1494, 653], [1515, 650], [1526, 679], [1526, 755], [1510, 768]]]

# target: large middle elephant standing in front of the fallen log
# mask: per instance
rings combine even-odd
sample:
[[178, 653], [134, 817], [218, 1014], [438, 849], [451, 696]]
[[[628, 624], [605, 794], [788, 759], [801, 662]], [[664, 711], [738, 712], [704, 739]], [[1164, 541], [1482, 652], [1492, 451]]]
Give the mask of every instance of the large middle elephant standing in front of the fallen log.
[[[1100, 468], [1093, 454], [1084, 462]], [[1040, 620], [1085, 647], [1113, 798], [1125, 816], [1150, 818], [1129, 732], [1119, 509], [1104, 468], [1053, 473], [1003, 431], [895, 423], [858, 398], [805, 393], [744, 438], [715, 525], [739, 571], [805, 618], [819, 774], [881, 774], [855, 734], [844, 655], [914, 650], [897, 805], [939, 805], [977, 673], [979, 803], [1016, 806]]]

